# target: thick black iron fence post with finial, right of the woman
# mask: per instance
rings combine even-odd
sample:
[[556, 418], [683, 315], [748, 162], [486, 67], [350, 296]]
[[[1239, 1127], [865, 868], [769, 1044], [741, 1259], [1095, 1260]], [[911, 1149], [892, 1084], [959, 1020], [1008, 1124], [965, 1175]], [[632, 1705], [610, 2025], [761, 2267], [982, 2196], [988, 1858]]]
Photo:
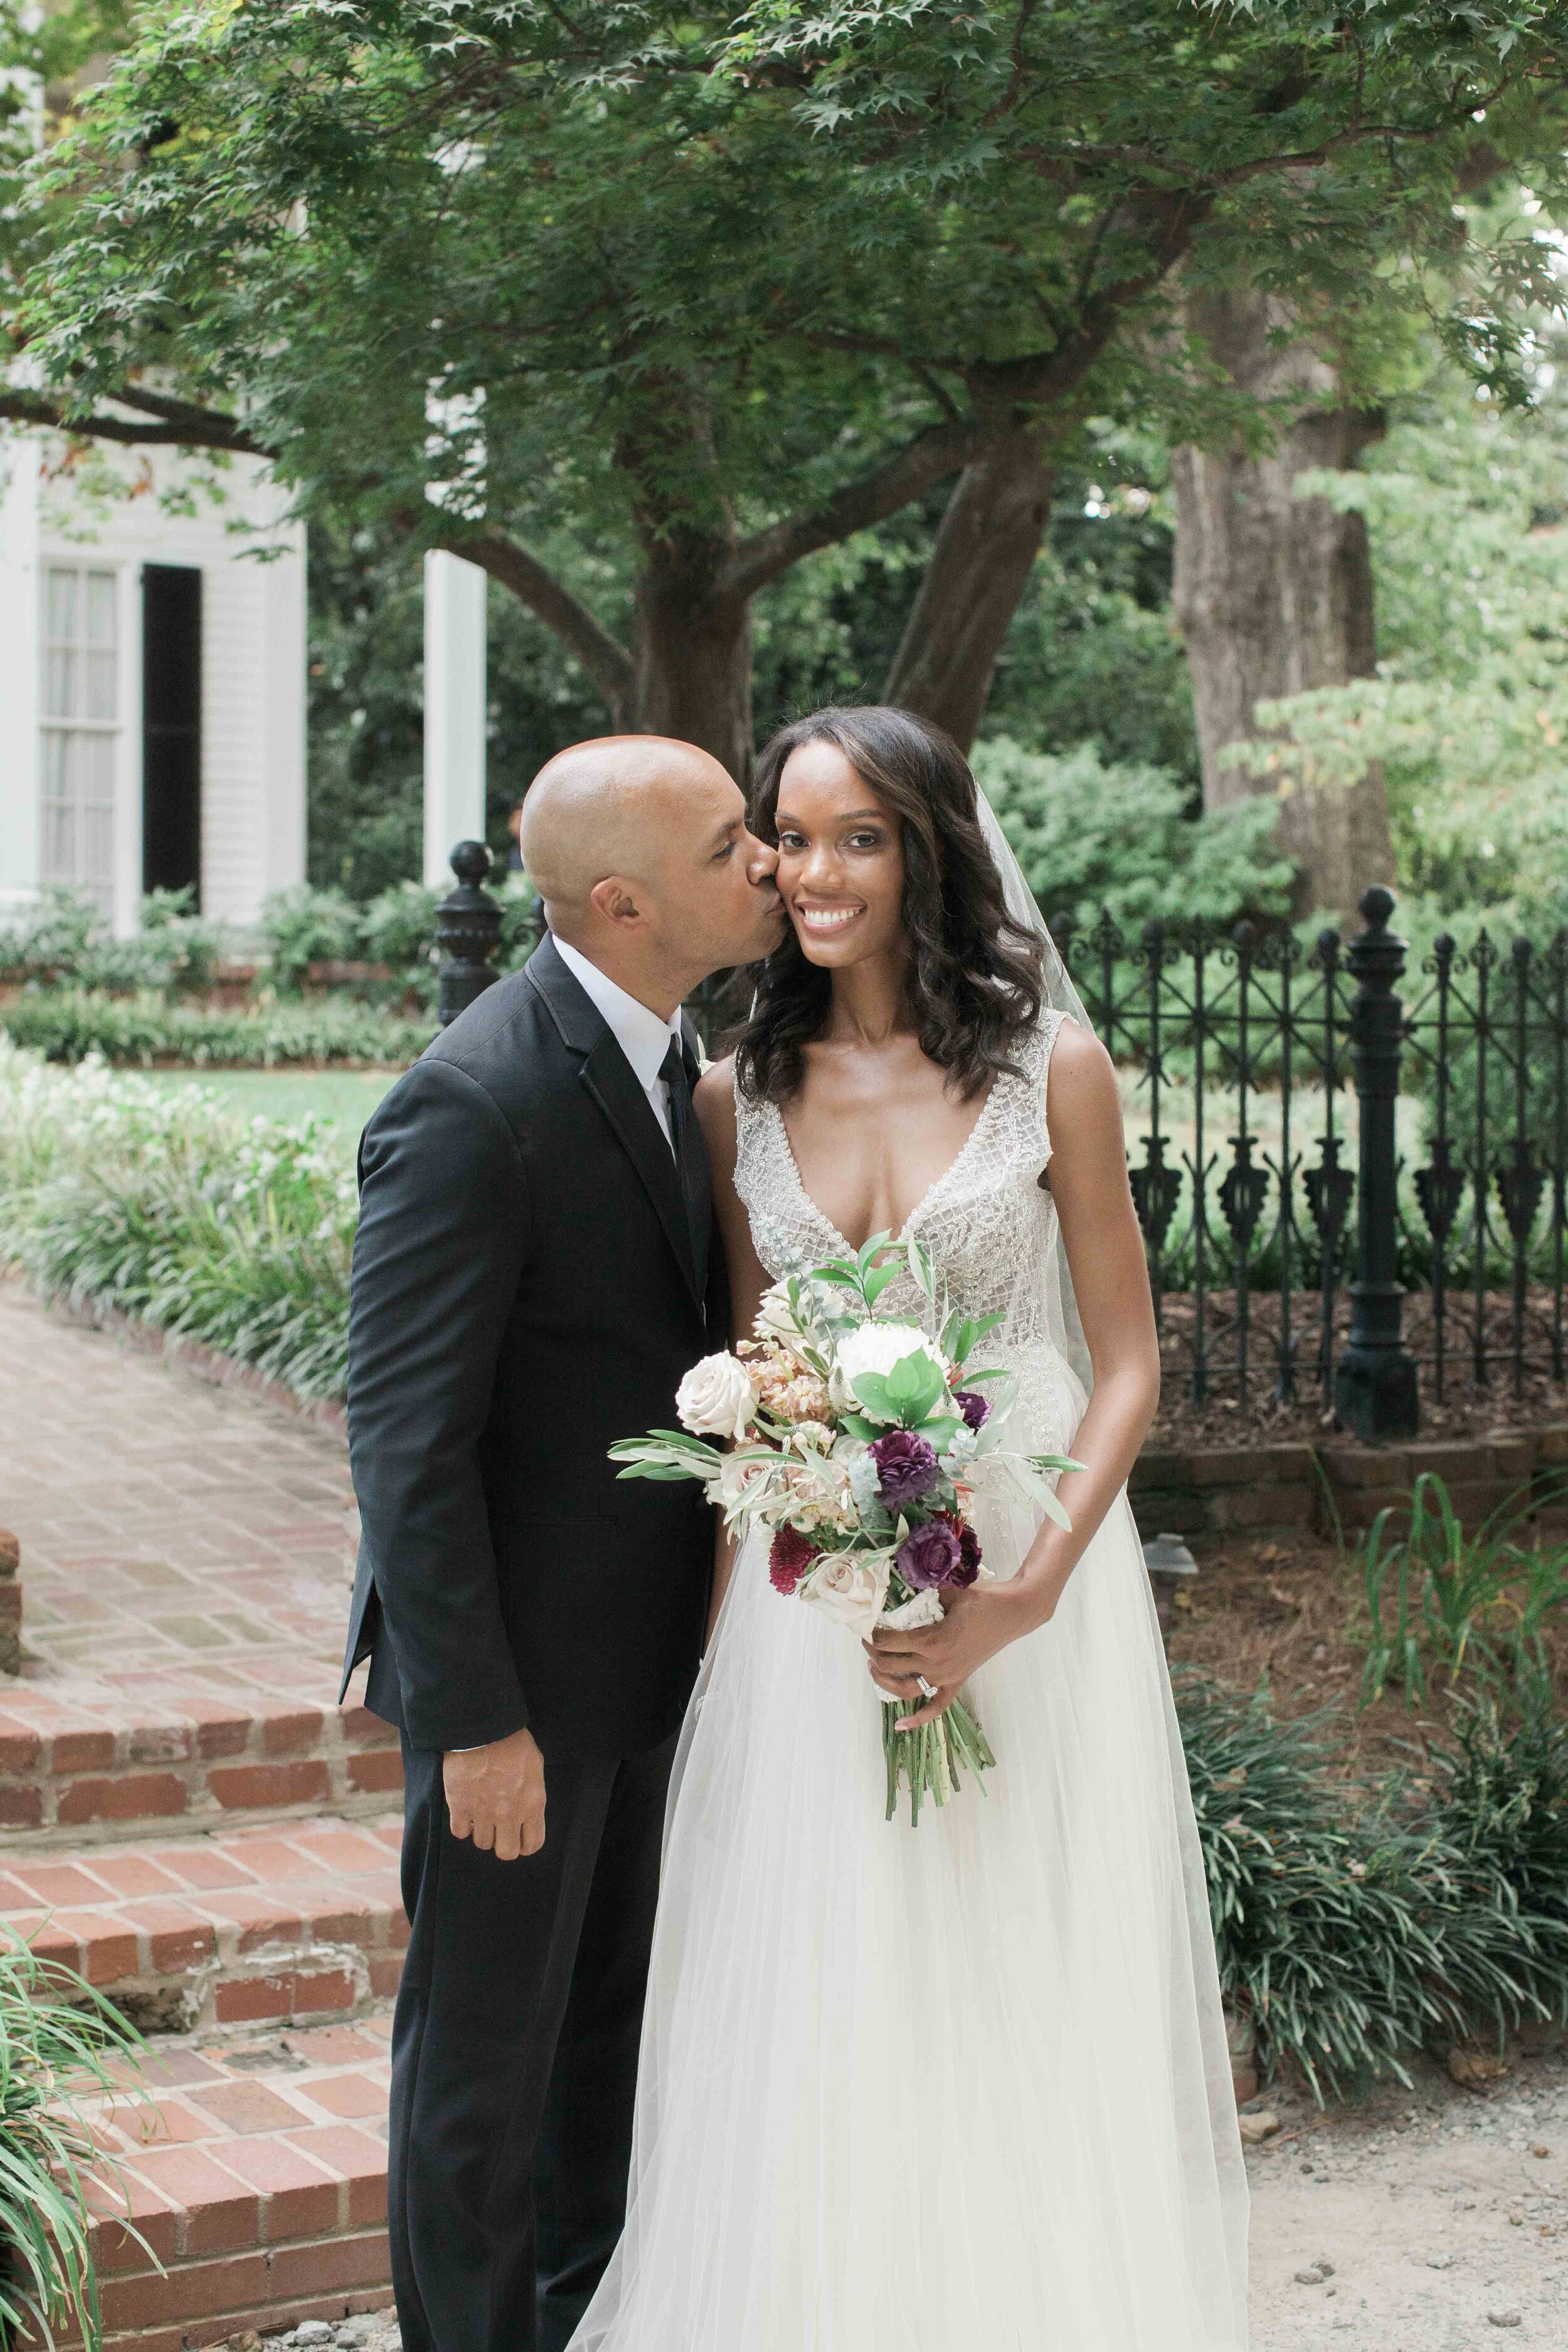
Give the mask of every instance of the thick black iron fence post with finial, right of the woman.
[[1401, 1336], [1403, 1284], [1396, 1277], [1399, 1049], [1403, 1004], [1396, 981], [1406, 943], [1389, 931], [1394, 894], [1375, 884], [1361, 898], [1366, 929], [1345, 962], [1356, 981], [1349, 1044], [1356, 1073], [1361, 1169], [1356, 1183], [1356, 1277], [1349, 1284], [1349, 1341], [1333, 1381], [1335, 1418], [1354, 1437], [1413, 1437], [1420, 1423], [1415, 1357]]

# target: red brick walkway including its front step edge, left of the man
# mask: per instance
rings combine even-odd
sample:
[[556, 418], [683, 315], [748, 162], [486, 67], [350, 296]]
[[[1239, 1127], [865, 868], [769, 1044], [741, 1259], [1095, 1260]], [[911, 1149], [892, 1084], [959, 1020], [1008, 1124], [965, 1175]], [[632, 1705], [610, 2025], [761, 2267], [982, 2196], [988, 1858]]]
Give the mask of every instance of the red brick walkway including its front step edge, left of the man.
[[336, 1712], [339, 1437], [209, 1388], [0, 1282], [0, 1526], [24, 1649], [0, 1689], [0, 1823], [49, 1842], [386, 1806], [386, 1726]]

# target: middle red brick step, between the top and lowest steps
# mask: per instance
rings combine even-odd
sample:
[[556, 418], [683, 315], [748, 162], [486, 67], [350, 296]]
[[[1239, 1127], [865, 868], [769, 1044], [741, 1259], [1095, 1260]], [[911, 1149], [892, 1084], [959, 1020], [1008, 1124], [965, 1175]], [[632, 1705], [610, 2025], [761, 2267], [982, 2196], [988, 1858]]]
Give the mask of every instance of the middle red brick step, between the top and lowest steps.
[[143, 2032], [360, 2016], [397, 1992], [397, 1820], [0, 1860], [0, 1926]]

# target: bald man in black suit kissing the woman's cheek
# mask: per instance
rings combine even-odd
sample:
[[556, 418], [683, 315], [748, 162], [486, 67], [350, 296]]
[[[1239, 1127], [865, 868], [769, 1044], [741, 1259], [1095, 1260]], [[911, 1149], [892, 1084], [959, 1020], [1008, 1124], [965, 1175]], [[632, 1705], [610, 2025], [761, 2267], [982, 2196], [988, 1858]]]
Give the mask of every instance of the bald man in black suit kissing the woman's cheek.
[[712, 1519], [607, 1449], [729, 1338], [679, 1004], [783, 931], [776, 854], [691, 743], [550, 760], [522, 854], [550, 936], [360, 1145], [348, 1668], [404, 1750], [404, 2352], [562, 2352], [621, 2234]]

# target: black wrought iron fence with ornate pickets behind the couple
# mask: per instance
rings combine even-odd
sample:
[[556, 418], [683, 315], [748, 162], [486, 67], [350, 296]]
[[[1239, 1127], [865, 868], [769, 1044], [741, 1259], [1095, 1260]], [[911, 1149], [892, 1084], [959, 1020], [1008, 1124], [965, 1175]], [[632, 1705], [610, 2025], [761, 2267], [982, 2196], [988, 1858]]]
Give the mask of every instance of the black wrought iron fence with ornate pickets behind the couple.
[[[498, 936], [482, 866], [461, 873], [442, 1018]], [[1312, 946], [1051, 924], [1121, 1073], [1168, 1392], [1394, 1437], [1418, 1395], [1566, 1378], [1568, 931], [1439, 938], [1413, 964], [1392, 915], [1368, 889], [1361, 929]]]

